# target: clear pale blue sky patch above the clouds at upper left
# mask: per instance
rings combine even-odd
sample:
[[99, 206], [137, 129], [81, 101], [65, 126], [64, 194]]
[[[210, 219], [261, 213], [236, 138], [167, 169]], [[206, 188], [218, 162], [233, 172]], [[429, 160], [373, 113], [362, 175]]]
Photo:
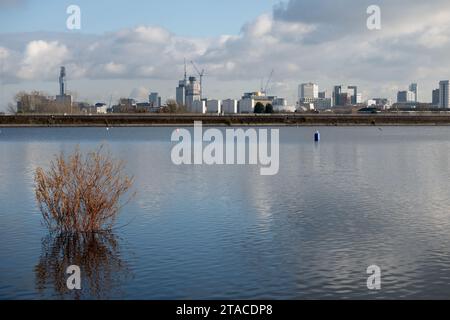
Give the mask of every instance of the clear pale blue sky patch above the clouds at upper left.
[[[66, 8], [80, 6], [83, 33], [158, 25], [183, 36], [237, 34], [279, 0], [3, 0], [0, 32], [67, 31]], [[2, 1], [0, 1], [1, 4]]]

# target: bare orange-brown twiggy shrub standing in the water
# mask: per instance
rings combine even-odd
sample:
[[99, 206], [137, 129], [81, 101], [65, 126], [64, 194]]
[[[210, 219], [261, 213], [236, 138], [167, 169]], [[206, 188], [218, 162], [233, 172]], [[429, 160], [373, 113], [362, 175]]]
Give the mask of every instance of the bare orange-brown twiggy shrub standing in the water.
[[85, 156], [79, 147], [67, 158], [61, 152], [48, 171], [38, 168], [35, 174], [45, 224], [64, 233], [111, 230], [132, 184], [124, 162], [114, 160], [103, 146]]

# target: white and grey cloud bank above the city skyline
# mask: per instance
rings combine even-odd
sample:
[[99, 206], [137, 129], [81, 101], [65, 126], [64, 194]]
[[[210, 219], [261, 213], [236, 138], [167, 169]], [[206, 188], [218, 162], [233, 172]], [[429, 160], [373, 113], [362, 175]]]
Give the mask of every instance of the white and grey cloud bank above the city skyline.
[[[239, 81], [241, 87], [230, 93], [234, 97], [257, 89], [272, 69], [272, 93], [288, 97], [306, 81], [328, 91], [338, 83], [357, 84], [366, 98], [394, 97], [397, 88], [412, 81], [431, 92], [450, 77], [450, 2], [377, 3], [380, 31], [366, 27], [373, 1], [291, 0], [235, 35], [183, 37], [160, 26], [103, 35], [0, 34], [0, 52], [5, 52], [10, 82], [54, 79], [64, 63], [73, 79], [167, 80], [175, 87], [186, 58], [207, 71], [210, 83]], [[189, 72], [195, 73], [191, 66]]]

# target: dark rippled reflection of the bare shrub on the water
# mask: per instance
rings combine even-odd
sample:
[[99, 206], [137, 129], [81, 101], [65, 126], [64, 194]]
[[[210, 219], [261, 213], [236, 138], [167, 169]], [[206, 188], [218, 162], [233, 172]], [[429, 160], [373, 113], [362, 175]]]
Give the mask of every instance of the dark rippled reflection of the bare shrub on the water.
[[[81, 269], [81, 290], [69, 290], [66, 269]], [[129, 276], [113, 233], [49, 235], [42, 240], [42, 252], [35, 267], [36, 289], [43, 295], [53, 290], [58, 298], [106, 299], [120, 290]]]

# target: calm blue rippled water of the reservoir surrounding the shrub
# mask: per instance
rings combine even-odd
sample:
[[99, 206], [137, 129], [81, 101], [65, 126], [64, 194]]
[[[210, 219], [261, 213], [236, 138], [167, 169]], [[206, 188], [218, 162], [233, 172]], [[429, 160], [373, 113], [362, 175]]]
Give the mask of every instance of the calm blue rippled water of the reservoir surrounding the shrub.
[[[320, 144], [315, 128], [282, 128], [276, 176], [175, 166], [172, 130], [2, 128], [0, 299], [450, 297], [450, 128], [321, 128]], [[102, 142], [137, 196], [112, 235], [49, 236], [35, 169]], [[67, 292], [80, 256], [83, 290]]]

